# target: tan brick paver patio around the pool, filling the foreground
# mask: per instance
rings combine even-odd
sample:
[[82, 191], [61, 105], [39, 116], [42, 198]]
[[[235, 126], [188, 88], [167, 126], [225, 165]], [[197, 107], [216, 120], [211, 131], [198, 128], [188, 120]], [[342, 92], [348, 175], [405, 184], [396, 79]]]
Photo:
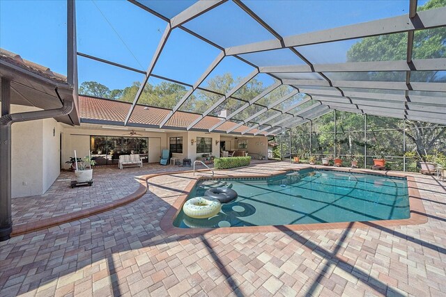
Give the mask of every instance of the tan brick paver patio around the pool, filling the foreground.
[[[131, 191], [125, 180], [142, 172], [130, 170], [97, 190]], [[114, 181], [115, 172], [103, 173]], [[428, 217], [422, 225], [185, 236], [167, 234], [160, 220], [194, 176], [153, 177], [130, 204], [0, 243], [0, 296], [445, 296], [446, 184], [413, 176]]]

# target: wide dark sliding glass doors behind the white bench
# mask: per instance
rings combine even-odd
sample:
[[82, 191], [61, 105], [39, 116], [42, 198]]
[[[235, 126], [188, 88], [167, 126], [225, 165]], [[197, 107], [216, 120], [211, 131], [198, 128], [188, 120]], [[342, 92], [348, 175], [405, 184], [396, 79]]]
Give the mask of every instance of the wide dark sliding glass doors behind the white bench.
[[96, 165], [119, 163], [121, 154], [139, 154], [148, 162], [148, 138], [127, 136], [90, 136], [91, 158]]

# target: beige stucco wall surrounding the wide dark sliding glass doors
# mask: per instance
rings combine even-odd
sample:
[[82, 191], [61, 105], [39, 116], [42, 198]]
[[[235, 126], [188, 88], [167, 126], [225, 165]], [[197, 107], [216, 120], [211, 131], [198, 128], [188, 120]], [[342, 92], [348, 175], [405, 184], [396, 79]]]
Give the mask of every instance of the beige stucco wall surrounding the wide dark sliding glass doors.
[[[78, 158], [83, 158], [88, 156], [90, 150], [90, 136], [124, 136], [124, 134], [130, 133], [129, 130], [119, 130], [119, 129], [90, 129], [85, 125], [78, 127], [66, 127], [64, 129], [63, 141], [62, 141], [62, 160], [63, 168], [68, 169], [69, 164], [65, 161], [70, 160], [70, 156], [74, 156], [75, 150]], [[148, 138], [149, 154], [153, 154], [153, 159], [159, 160], [161, 156], [161, 150], [167, 148], [167, 134], [165, 132], [151, 132], [144, 130], [135, 130], [141, 136]], [[151, 139], [160, 139], [160, 152], [153, 152], [151, 150]], [[149, 156], [150, 158], [150, 156]]]

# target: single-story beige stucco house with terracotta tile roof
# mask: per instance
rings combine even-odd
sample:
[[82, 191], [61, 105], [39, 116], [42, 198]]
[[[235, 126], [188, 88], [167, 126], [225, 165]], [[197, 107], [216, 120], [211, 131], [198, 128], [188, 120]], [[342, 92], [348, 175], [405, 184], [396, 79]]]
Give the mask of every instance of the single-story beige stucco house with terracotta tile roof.
[[2, 102], [1, 115], [56, 109], [61, 99], [73, 102], [67, 115], [10, 125], [12, 198], [45, 193], [61, 170], [70, 168], [66, 161], [74, 151], [78, 157], [91, 153], [98, 166], [117, 165], [120, 154], [132, 153], [141, 154], [150, 166], [159, 163], [164, 149], [171, 150], [173, 157], [192, 162], [203, 154], [219, 157], [222, 150], [247, 153], [255, 159], [268, 154], [267, 138], [263, 134], [254, 136], [256, 129], [241, 135], [248, 127], [240, 126], [226, 134], [237, 125], [226, 121], [209, 132], [222, 118], [206, 116], [187, 130], [201, 115], [182, 111], [174, 113], [160, 129], [162, 119], [171, 110], [143, 105], [135, 106], [128, 125], [124, 125], [130, 103], [78, 96], [66, 77], [10, 51], [1, 49], [0, 62], [1, 81], [5, 89], [7, 83], [11, 87], [10, 105]]

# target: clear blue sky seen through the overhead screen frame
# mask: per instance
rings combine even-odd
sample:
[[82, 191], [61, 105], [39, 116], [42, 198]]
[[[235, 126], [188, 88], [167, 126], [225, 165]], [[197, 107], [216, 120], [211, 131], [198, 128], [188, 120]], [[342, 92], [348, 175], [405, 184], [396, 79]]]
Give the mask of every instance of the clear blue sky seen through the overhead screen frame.
[[[421, 6], [425, 0], [418, 1]], [[167, 17], [173, 17], [194, 1], [144, 1]], [[408, 0], [357, 1], [244, 1], [257, 15], [283, 36], [308, 33], [334, 26], [404, 15]], [[77, 0], [77, 50], [139, 70], [146, 70], [160, 41], [166, 22], [128, 1]], [[272, 35], [235, 3], [228, 1], [185, 24], [222, 47], [273, 39]], [[342, 63], [346, 51], [359, 40], [300, 47], [312, 63]], [[66, 74], [66, 1], [0, 0], [0, 47], [22, 58]], [[330, 55], [326, 55], [326, 53]], [[174, 29], [154, 73], [193, 84], [220, 53], [206, 42]], [[303, 61], [287, 49], [278, 49], [243, 58], [259, 66], [299, 65]], [[208, 77], [231, 72], [245, 77], [254, 68], [226, 57]], [[110, 89], [125, 88], [143, 75], [78, 57], [79, 83], [98, 81]], [[202, 84], [206, 86], [208, 79]], [[259, 77], [265, 85], [273, 83]], [[159, 83], [158, 79], [149, 80]]]

